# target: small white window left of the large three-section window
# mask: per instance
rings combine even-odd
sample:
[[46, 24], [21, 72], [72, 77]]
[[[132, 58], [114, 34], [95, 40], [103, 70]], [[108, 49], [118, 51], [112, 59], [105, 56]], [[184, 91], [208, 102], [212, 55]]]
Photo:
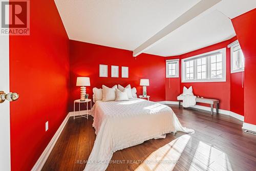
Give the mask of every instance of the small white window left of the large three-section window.
[[166, 78], [179, 77], [179, 59], [166, 60]]

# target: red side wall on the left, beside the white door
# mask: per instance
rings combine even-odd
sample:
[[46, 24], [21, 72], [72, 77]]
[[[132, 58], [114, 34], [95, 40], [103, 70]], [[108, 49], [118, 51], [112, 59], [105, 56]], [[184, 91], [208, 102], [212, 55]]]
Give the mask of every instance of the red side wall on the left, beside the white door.
[[11, 170], [30, 170], [68, 111], [69, 39], [54, 1], [30, 1], [30, 36], [10, 36], [10, 90]]

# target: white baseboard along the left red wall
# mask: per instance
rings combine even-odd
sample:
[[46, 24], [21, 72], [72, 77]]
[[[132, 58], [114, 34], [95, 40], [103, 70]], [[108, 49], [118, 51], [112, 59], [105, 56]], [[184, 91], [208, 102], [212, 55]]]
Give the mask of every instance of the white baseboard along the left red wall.
[[42, 167], [44, 166], [47, 158], [49, 157], [50, 153], [52, 152], [52, 148], [54, 147], [55, 143], [57, 142], [62, 130], [64, 129], [66, 123], [69, 120], [69, 114], [66, 116], [66, 118], [63, 120], [63, 122], [61, 123], [61, 125], [59, 126], [59, 129], [56, 131], [56, 133], [54, 134], [54, 136], [52, 137], [51, 141], [49, 142], [49, 144], [47, 145], [47, 147], [45, 148], [44, 152], [42, 152], [41, 156], [39, 157], [39, 159], [36, 161], [34, 167], [31, 169], [31, 171], [38, 171], [41, 170]]

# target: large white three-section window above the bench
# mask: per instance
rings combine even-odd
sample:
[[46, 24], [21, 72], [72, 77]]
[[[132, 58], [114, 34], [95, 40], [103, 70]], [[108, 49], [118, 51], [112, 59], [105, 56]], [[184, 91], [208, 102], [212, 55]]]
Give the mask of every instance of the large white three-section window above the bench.
[[226, 48], [182, 59], [182, 82], [226, 81]]

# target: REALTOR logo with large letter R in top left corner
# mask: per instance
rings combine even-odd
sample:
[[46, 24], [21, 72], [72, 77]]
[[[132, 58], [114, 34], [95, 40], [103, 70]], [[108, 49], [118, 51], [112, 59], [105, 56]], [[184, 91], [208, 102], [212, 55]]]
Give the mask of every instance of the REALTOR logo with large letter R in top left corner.
[[29, 0], [1, 1], [1, 35], [29, 35]]

